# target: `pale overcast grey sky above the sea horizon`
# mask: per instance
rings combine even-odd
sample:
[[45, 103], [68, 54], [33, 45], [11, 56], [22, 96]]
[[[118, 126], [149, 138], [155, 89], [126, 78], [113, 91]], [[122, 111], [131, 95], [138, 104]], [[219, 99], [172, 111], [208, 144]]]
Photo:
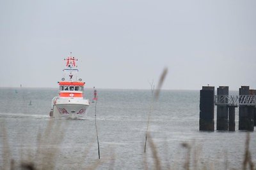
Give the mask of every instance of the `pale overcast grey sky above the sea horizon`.
[[256, 89], [256, 1], [0, 0], [0, 87], [58, 87], [63, 58], [87, 87]]

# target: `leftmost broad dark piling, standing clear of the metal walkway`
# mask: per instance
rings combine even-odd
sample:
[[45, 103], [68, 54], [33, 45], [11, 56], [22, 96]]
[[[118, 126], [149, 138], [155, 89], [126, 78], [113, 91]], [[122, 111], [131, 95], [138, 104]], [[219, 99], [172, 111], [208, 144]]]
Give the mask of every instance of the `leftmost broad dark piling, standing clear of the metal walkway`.
[[200, 90], [199, 131], [214, 131], [214, 87]]

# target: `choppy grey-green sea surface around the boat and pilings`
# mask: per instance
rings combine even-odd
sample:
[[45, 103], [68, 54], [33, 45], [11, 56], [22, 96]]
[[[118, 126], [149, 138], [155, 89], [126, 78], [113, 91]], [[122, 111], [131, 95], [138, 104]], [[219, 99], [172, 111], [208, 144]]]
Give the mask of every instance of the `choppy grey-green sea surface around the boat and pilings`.
[[[55, 120], [49, 111], [58, 89], [1, 88], [0, 167], [241, 169], [248, 133], [238, 131], [238, 109], [236, 132], [200, 132], [199, 94], [161, 90], [152, 102], [151, 90], [98, 89], [86, 120]], [[93, 89], [84, 96], [92, 99]], [[249, 134], [256, 162], [256, 132]]]

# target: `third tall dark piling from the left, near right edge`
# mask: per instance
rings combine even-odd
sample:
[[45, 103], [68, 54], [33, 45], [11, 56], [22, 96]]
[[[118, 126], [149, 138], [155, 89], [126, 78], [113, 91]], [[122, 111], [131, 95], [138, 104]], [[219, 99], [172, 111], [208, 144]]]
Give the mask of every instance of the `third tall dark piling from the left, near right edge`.
[[[239, 130], [253, 131], [254, 130], [254, 108], [250, 106], [248, 96], [250, 94], [249, 86], [239, 88]], [[243, 102], [244, 101], [244, 102]]]

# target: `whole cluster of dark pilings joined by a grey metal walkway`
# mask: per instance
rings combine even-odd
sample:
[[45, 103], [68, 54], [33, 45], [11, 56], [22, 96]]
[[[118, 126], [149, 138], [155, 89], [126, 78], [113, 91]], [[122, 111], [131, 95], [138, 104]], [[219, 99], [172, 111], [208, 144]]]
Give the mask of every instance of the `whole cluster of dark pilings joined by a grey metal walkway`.
[[228, 86], [202, 87], [200, 90], [200, 131], [214, 131], [214, 105], [217, 106], [217, 131], [235, 131], [235, 111], [239, 107], [239, 130], [254, 131], [256, 126], [256, 90], [239, 89], [239, 96], [229, 96]]

